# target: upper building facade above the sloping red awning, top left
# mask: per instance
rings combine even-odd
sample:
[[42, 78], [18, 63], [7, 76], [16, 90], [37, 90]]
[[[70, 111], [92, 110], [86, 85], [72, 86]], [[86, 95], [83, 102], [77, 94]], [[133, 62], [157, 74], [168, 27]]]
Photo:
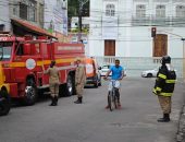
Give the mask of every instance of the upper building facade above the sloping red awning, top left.
[[44, 0], [1, 0], [0, 31], [11, 31], [11, 20], [24, 20], [44, 27]]

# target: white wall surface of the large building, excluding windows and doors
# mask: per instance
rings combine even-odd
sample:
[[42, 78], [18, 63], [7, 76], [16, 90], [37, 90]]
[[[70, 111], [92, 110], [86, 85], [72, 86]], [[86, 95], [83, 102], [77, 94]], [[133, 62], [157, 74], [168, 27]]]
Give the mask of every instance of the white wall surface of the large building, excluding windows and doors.
[[[109, 0], [106, 0], [107, 3]], [[152, 57], [152, 38], [151, 27], [148, 26], [132, 26], [132, 16], [135, 15], [134, 8], [136, 3], [133, 0], [110, 0], [110, 3], [115, 2], [118, 7], [118, 37], [111, 33], [111, 29], [104, 28], [104, 3], [103, 0], [90, 0], [90, 33], [89, 33], [89, 52], [90, 56], [103, 56], [104, 55], [104, 40], [115, 39], [115, 56], [116, 57]], [[118, 3], [116, 3], [118, 2]], [[175, 15], [175, 3], [170, 1], [157, 2], [153, 4], [153, 0], [144, 2], [147, 4], [147, 15], [155, 16], [156, 4], [166, 5], [166, 16]], [[174, 4], [175, 3], [175, 4]], [[184, 2], [185, 5], [185, 2]], [[111, 19], [111, 17], [110, 17]], [[107, 21], [106, 21], [107, 22]], [[109, 32], [109, 36], [104, 36], [104, 32]], [[172, 26], [157, 26], [157, 34], [168, 35], [168, 55], [173, 58], [183, 57], [183, 42], [181, 37], [185, 37], [185, 27], [172, 27]], [[175, 35], [176, 34], [176, 35]], [[111, 37], [112, 35], [112, 37]]]

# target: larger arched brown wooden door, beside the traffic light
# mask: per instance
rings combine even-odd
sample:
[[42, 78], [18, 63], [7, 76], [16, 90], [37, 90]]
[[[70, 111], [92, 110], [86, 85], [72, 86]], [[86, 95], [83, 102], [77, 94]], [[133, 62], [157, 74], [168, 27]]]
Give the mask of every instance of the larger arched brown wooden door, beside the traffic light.
[[168, 54], [168, 35], [157, 34], [153, 38], [153, 57], [162, 57]]

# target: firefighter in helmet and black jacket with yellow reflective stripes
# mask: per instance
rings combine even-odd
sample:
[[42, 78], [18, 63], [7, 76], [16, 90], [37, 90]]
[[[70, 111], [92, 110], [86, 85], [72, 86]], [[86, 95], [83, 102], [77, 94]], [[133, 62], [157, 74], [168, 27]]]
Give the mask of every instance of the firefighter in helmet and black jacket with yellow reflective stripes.
[[158, 122], [169, 122], [176, 74], [171, 66], [170, 56], [162, 57], [161, 64], [157, 74], [153, 93], [158, 95], [159, 104], [163, 111], [163, 118], [159, 118]]

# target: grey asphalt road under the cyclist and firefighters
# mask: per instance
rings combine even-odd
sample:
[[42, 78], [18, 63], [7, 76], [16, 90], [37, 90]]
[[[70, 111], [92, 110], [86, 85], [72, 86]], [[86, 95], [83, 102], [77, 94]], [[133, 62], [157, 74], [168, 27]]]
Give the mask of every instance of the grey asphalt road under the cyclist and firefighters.
[[159, 123], [161, 109], [151, 93], [153, 79], [122, 81], [122, 109], [109, 111], [107, 84], [85, 88], [84, 104], [76, 96], [62, 97], [59, 106], [42, 100], [35, 106], [13, 107], [0, 117], [0, 142], [175, 142], [184, 84], [178, 82], [169, 123]]

